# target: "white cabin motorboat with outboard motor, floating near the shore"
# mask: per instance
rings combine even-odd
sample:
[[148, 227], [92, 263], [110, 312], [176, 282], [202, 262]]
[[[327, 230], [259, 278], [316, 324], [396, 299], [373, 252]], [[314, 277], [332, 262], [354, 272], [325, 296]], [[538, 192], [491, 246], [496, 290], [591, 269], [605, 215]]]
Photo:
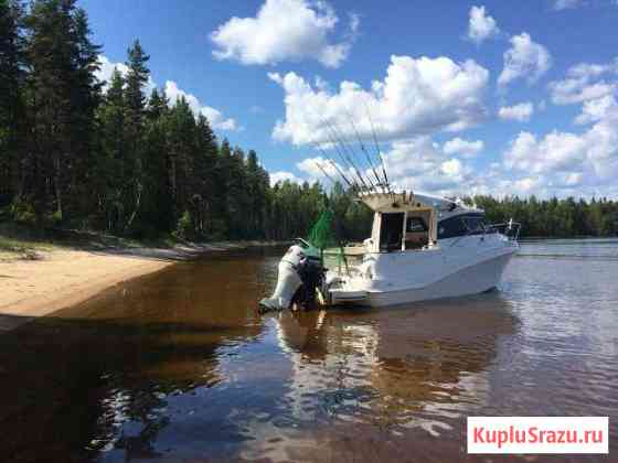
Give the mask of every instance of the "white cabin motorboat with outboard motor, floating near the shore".
[[521, 225], [489, 224], [461, 201], [393, 191], [359, 192], [373, 211], [362, 244], [319, 249], [298, 238], [279, 262], [265, 310], [295, 303], [386, 306], [490, 291], [519, 251]]

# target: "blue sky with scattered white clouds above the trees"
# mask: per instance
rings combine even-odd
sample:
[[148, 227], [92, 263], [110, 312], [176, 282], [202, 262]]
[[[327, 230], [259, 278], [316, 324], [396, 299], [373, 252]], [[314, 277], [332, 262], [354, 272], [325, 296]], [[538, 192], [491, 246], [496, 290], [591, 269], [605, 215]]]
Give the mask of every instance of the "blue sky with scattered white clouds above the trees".
[[618, 197], [618, 0], [81, 6], [102, 80], [139, 39], [149, 89], [255, 149], [271, 182], [328, 183], [324, 154], [349, 170], [337, 134], [379, 148], [399, 189]]

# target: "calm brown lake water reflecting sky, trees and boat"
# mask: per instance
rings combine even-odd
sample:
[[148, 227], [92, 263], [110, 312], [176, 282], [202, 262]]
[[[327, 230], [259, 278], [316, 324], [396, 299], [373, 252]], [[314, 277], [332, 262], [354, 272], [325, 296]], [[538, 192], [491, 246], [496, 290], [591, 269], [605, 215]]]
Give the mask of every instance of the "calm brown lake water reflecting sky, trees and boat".
[[478, 297], [262, 316], [265, 252], [0, 336], [0, 461], [448, 462], [486, 414], [609, 416], [610, 455], [571, 460], [617, 460], [618, 240], [526, 243]]

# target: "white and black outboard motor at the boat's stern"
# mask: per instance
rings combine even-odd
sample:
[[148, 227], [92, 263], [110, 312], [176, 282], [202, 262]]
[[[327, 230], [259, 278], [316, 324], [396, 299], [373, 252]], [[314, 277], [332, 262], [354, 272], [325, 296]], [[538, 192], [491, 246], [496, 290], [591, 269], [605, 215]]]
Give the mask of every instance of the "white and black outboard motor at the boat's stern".
[[292, 302], [311, 305], [322, 286], [324, 269], [316, 249], [303, 240], [290, 246], [279, 262], [277, 287], [270, 298], [259, 301], [263, 311], [288, 309]]

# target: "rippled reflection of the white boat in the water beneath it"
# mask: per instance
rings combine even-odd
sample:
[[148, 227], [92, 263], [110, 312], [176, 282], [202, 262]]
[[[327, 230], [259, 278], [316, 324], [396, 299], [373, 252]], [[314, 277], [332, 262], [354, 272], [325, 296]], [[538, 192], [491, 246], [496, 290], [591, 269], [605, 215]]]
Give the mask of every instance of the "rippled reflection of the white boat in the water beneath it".
[[[488, 367], [519, 324], [497, 293], [393, 310], [284, 312], [277, 326], [291, 360], [288, 399], [299, 420], [439, 434], [486, 403]], [[311, 397], [321, 407], [307, 407]]]

